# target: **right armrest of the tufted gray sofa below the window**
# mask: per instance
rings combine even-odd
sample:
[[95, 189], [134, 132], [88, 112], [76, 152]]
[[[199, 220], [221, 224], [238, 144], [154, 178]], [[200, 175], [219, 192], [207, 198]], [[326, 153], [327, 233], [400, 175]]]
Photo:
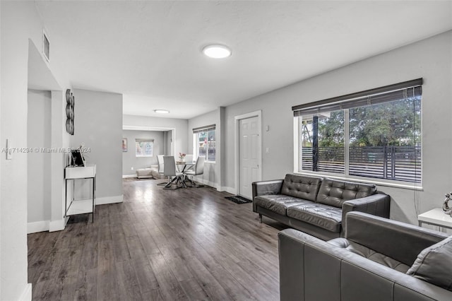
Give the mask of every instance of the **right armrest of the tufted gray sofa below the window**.
[[389, 218], [389, 208], [391, 205], [391, 197], [387, 194], [376, 193], [360, 199], [345, 201], [342, 206], [342, 232], [344, 236], [347, 230], [347, 213], [352, 211], [360, 211], [373, 214], [374, 216], [382, 216]]

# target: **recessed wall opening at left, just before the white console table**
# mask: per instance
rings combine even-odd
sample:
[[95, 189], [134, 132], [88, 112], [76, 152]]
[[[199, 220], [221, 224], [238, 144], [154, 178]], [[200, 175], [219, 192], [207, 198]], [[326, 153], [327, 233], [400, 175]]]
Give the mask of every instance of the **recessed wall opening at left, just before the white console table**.
[[63, 89], [40, 51], [28, 40], [28, 233], [64, 229], [66, 161], [64, 153], [52, 152], [69, 147], [64, 106]]

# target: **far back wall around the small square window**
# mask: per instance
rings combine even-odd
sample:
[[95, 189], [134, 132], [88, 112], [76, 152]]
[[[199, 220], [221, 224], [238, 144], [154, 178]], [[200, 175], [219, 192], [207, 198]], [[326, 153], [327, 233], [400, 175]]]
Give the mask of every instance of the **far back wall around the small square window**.
[[[122, 175], [136, 175], [138, 168], [156, 165], [157, 155], [164, 154], [165, 141], [162, 131], [122, 131], [122, 138], [127, 138], [128, 150], [122, 153]], [[136, 157], [135, 139], [154, 139], [152, 157]], [[133, 170], [131, 169], [133, 167]]]

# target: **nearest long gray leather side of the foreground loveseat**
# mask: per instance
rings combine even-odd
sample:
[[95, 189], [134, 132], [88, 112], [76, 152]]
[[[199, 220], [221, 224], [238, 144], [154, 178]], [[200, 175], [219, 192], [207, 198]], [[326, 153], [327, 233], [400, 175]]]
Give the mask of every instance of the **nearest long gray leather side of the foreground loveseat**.
[[297, 230], [278, 233], [280, 300], [452, 300], [452, 292]]

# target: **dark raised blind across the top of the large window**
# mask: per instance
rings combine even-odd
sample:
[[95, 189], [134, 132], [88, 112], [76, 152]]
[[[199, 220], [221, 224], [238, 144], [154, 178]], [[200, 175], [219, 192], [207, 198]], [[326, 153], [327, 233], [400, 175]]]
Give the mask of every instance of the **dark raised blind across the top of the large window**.
[[376, 105], [422, 95], [422, 78], [292, 107], [294, 116]]

